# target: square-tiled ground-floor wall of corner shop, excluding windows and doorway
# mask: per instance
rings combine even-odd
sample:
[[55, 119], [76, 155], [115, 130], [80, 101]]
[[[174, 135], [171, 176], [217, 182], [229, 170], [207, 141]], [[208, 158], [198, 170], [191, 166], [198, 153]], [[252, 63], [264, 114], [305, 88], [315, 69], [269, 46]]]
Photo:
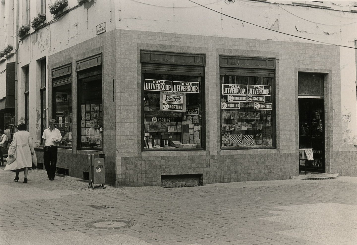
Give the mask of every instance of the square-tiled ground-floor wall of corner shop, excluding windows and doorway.
[[[200, 53], [206, 56], [206, 147], [202, 151], [141, 151], [140, 50]], [[102, 53], [103, 153], [106, 182], [115, 186], [160, 185], [161, 175], [203, 174], [203, 183], [288, 179], [299, 174], [297, 72], [325, 73], [326, 173], [356, 175], [357, 151], [342, 145], [340, 53], [332, 45], [271, 40], [113, 30], [49, 56], [49, 70], [72, 63], [72, 93], [76, 94], [75, 63]], [[220, 149], [219, 55], [276, 58], [276, 149]], [[51, 77], [49, 77], [51, 81]], [[51, 94], [49, 86], [49, 96]], [[73, 100], [73, 124], [77, 124]], [[51, 115], [51, 96], [49, 115]], [[57, 167], [71, 176], [88, 172], [87, 154], [60, 149]], [[41, 149], [38, 158], [42, 159]]]

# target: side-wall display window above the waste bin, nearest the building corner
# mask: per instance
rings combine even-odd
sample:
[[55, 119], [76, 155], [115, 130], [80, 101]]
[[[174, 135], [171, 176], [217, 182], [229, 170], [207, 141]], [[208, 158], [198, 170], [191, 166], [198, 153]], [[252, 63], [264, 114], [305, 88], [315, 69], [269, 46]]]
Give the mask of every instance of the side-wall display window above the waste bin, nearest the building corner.
[[102, 75], [79, 79], [80, 147], [103, 147]]

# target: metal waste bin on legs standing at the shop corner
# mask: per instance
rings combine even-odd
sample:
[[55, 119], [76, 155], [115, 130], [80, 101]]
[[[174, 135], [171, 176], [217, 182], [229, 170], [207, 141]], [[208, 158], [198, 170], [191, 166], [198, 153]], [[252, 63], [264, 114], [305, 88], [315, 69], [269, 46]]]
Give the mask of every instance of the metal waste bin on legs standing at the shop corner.
[[[88, 154], [89, 185], [93, 189], [105, 188], [105, 159], [104, 154]], [[94, 186], [100, 184], [100, 186]]]

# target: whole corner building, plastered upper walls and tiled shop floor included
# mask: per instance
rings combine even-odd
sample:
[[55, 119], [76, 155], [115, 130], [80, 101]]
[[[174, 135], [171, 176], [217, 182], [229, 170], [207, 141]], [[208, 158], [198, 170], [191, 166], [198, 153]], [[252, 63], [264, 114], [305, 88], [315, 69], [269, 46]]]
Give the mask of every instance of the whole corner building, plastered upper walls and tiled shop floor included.
[[17, 16], [1, 25], [6, 112], [40, 165], [55, 118], [58, 173], [86, 179], [104, 154], [115, 186], [357, 174], [353, 2], [69, 0], [52, 15], [55, 2], [0, 6]]

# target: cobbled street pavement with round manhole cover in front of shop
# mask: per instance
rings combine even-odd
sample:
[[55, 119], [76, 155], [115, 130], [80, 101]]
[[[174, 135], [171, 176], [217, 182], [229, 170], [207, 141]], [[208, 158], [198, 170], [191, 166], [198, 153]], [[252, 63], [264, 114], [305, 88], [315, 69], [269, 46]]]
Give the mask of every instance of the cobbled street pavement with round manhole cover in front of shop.
[[357, 177], [94, 190], [14, 176], [0, 167], [1, 245], [356, 245]]

